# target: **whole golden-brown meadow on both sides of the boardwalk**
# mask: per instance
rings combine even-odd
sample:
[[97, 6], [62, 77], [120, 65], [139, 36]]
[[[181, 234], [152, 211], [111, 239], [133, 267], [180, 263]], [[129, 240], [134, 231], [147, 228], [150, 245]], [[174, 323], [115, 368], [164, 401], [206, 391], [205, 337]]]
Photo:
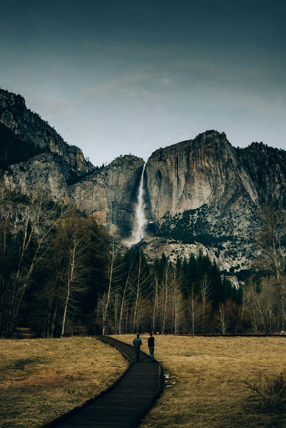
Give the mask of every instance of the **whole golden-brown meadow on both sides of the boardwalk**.
[[[135, 336], [112, 337], [132, 344]], [[148, 337], [141, 335], [145, 352]], [[286, 427], [285, 351], [286, 336], [156, 335], [165, 389], [140, 428]], [[118, 351], [92, 337], [2, 339], [0, 426], [39, 427], [126, 367]]]

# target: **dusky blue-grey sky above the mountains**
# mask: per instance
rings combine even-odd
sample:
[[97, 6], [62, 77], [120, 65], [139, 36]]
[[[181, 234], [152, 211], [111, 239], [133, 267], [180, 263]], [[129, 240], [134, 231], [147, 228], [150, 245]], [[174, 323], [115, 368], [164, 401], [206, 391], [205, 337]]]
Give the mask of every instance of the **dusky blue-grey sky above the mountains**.
[[286, 2], [1, 4], [0, 87], [101, 166], [225, 132], [286, 149]]

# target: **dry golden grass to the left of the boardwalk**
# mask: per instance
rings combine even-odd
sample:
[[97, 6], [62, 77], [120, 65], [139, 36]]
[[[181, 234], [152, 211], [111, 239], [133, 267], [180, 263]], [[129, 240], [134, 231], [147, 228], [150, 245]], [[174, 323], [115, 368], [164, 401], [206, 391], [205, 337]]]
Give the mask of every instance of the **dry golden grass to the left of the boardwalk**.
[[0, 426], [39, 427], [105, 389], [127, 362], [90, 337], [0, 339]]

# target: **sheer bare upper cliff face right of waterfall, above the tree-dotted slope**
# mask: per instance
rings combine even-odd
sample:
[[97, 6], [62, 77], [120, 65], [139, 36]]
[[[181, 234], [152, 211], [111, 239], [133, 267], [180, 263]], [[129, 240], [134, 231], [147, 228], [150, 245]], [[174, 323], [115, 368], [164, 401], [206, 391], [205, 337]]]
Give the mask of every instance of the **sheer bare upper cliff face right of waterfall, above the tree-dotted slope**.
[[156, 150], [146, 164], [146, 190], [148, 217], [158, 220], [204, 204], [226, 211], [241, 198], [258, 202], [236, 149], [216, 131]]

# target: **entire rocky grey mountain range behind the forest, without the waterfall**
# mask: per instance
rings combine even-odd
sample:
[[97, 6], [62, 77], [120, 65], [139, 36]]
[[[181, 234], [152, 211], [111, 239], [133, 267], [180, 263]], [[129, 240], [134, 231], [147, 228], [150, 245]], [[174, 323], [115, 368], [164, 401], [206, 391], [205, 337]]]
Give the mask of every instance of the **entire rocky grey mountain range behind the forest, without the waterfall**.
[[[118, 241], [130, 237], [143, 159], [127, 155], [95, 168], [28, 110], [23, 97], [3, 89], [0, 149], [0, 168], [12, 188], [25, 193], [43, 182], [52, 199], [69, 193]], [[274, 202], [285, 208], [286, 152], [263, 143], [235, 148], [224, 133], [206, 131], [153, 152], [142, 183], [146, 237], [140, 245], [150, 260], [163, 251], [175, 259], [201, 249], [238, 274], [253, 258], [259, 207]]]

